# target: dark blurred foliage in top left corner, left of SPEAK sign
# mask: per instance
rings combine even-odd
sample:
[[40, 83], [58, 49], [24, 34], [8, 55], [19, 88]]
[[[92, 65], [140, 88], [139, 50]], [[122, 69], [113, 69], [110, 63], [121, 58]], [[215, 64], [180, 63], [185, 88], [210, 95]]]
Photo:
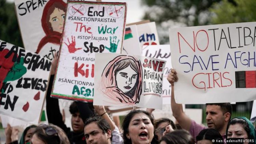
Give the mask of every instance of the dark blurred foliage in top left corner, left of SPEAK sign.
[[0, 40], [24, 47], [15, 13], [14, 2], [0, 0]]

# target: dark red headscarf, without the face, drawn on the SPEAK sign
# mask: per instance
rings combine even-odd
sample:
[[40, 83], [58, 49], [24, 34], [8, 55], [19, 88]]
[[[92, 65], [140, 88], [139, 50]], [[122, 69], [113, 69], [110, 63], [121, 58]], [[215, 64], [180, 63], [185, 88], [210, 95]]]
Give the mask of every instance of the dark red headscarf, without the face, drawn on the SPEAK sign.
[[35, 53], [39, 53], [42, 47], [47, 43], [60, 44], [61, 33], [57, 31], [53, 31], [51, 23], [49, 22], [50, 15], [53, 13], [55, 8], [58, 8], [64, 12], [66, 12], [67, 4], [62, 0], [49, 0], [44, 6], [43, 14], [42, 14], [42, 28], [45, 32], [45, 36], [38, 44], [37, 51]]

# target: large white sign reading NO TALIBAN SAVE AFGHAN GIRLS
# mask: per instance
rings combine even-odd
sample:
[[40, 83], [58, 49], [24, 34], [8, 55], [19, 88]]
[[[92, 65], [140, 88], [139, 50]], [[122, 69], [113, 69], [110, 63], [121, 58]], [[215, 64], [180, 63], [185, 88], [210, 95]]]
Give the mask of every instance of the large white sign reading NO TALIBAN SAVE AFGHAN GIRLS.
[[256, 98], [256, 22], [169, 30], [177, 103]]

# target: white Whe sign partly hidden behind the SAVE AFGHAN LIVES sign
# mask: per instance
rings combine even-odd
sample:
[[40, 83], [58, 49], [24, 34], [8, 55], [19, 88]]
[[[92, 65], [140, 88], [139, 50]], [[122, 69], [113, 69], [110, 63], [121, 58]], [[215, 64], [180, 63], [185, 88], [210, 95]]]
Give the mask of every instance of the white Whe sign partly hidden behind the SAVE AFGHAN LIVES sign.
[[171, 84], [167, 81], [167, 76], [172, 68], [170, 45], [143, 46], [142, 55], [166, 61], [163, 71], [162, 97], [163, 104], [171, 104]]

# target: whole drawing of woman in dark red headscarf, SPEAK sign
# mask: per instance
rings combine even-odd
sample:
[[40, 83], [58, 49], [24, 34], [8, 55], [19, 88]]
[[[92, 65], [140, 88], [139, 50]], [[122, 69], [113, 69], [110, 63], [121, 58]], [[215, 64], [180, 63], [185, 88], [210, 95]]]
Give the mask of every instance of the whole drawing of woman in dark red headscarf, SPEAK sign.
[[36, 53], [47, 43], [60, 44], [67, 4], [62, 0], [49, 0], [41, 19], [45, 36], [39, 42]]

